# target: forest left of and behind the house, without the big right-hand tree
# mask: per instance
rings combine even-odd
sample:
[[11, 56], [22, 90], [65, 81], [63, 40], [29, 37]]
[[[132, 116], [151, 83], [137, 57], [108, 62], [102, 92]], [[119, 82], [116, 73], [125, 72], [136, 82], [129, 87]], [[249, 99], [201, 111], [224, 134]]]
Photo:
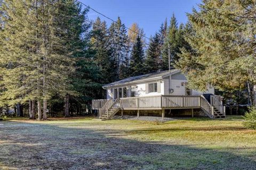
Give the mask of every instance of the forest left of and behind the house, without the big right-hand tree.
[[[107, 25], [75, 0], [0, 1], [0, 105], [26, 106], [30, 118], [83, 113], [105, 98], [103, 84], [169, 69], [187, 46], [173, 14], [153, 37], [121, 18]], [[160, 26], [160, 25], [159, 25]]]

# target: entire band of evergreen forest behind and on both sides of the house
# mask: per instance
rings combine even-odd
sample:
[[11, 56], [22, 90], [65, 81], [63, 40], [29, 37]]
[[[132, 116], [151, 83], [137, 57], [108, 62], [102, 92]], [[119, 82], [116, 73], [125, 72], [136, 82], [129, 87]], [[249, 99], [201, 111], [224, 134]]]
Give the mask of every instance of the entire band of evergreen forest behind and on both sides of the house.
[[0, 0], [0, 107], [30, 118], [90, 112], [103, 84], [169, 69], [189, 87], [211, 84], [227, 104], [255, 104], [255, 2], [202, 1], [178, 23], [163, 19], [147, 38], [137, 23], [110, 25], [76, 0]]

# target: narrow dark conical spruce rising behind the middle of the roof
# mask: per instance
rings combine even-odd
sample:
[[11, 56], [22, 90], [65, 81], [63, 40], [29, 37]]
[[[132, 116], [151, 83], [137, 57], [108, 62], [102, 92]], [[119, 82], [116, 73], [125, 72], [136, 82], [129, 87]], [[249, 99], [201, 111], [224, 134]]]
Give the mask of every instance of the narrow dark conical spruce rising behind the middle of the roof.
[[144, 61], [143, 44], [140, 36], [138, 36], [132, 48], [131, 63], [130, 63], [131, 76], [137, 76], [145, 73], [143, 61]]

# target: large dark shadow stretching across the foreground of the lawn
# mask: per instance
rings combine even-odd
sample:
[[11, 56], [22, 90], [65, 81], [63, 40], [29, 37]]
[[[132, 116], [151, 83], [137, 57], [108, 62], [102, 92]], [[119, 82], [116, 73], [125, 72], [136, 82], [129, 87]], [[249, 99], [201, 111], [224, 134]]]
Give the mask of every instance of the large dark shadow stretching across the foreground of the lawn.
[[[86, 128], [86, 122], [79, 123], [79, 128], [62, 125], [65, 122], [4, 122], [0, 126], [0, 168], [256, 169], [255, 148], [213, 150], [178, 143], [141, 142], [124, 139], [120, 131]], [[84, 128], [80, 128], [82, 125]], [[243, 154], [237, 154], [238, 150]]]

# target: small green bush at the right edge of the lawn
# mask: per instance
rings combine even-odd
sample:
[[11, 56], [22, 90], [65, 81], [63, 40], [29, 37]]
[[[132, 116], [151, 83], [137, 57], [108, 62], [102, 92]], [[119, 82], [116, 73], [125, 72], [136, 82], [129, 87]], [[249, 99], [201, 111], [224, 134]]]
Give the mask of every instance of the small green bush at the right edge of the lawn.
[[245, 113], [244, 117], [244, 126], [247, 129], [255, 129], [256, 130], [256, 107], [251, 106], [248, 108], [249, 111]]

